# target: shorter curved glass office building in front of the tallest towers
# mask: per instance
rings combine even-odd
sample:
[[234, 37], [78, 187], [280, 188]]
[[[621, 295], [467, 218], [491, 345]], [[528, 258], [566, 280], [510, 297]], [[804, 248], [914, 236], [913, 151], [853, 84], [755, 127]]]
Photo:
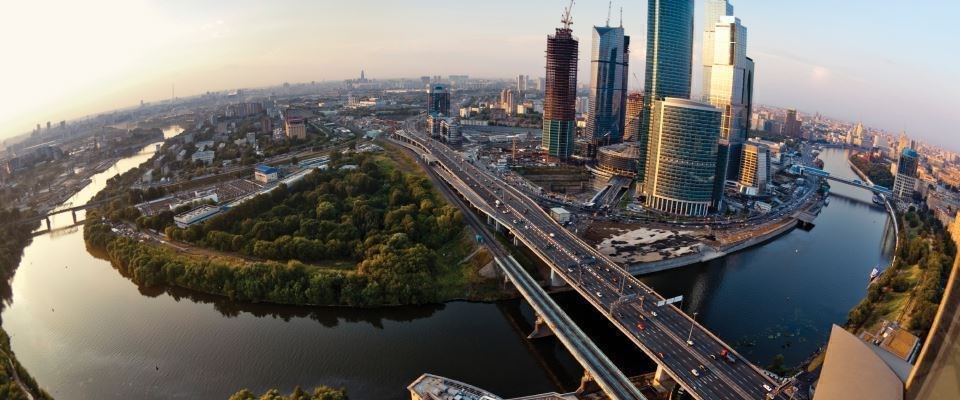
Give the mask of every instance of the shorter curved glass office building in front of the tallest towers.
[[714, 186], [720, 110], [668, 97], [654, 102], [652, 114], [643, 184], [647, 207], [706, 215], [720, 201]]

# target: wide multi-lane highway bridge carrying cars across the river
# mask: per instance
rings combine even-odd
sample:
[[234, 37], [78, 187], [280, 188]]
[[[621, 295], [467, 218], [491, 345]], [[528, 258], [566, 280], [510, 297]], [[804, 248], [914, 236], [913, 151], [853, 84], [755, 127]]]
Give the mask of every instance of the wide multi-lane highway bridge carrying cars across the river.
[[[696, 399], [786, 398], [764, 371], [665, 304], [663, 296], [564, 229], [514, 186], [412, 131], [397, 131], [393, 139], [416, 151], [488, 224], [548, 265], [553, 284], [569, 285], [653, 359], [655, 382], [675, 381]], [[611, 398], [621, 398], [603, 389]]]

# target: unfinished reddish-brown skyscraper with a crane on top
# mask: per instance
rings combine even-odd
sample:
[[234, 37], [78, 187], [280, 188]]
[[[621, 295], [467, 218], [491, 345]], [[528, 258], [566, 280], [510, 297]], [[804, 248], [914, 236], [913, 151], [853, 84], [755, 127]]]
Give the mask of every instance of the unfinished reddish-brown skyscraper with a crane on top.
[[573, 153], [577, 115], [577, 51], [570, 9], [564, 12], [563, 26], [547, 36], [546, 90], [543, 95], [542, 147], [550, 157], [565, 160]]

